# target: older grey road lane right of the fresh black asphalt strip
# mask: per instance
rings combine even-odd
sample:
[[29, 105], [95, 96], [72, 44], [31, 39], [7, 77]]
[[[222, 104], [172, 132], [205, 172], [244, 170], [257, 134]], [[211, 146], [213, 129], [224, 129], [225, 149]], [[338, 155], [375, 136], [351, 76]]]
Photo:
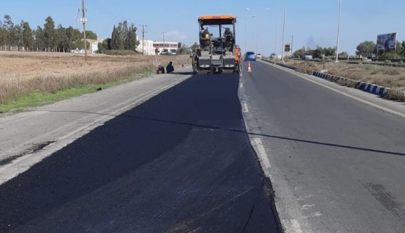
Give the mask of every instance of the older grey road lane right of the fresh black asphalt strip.
[[285, 231], [404, 232], [404, 103], [268, 63], [251, 70], [244, 119]]

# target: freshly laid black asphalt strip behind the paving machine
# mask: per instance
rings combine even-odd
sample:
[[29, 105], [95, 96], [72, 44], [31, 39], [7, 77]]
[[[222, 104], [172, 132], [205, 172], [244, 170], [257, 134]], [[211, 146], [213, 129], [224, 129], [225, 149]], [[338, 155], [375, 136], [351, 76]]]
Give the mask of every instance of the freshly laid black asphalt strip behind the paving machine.
[[1, 184], [0, 232], [278, 232], [238, 85], [195, 75], [111, 116]]

